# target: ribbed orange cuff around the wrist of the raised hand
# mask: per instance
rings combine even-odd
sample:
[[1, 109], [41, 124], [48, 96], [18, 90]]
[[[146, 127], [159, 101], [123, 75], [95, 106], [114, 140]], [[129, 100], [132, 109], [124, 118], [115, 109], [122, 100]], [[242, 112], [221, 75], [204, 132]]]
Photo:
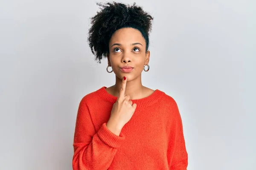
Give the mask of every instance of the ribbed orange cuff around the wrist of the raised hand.
[[101, 139], [105, 144], [113, 148], [118, 148], [121, 146], [122, 141], [125, 139], [122, 132], [119, 136], [112, 133], [108, 127], [106, 126], [107, 123], [102, 124], [102, 127], [98, 131], [99, 139]]

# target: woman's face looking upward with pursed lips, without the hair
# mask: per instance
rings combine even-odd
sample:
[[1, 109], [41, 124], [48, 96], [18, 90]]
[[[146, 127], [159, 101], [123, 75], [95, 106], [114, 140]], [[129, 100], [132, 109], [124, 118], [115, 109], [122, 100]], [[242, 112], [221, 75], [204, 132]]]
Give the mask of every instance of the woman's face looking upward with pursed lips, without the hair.
[[[124, 76], [128, 81], [141, 75], [144, 65], [149, 62], [150, 52], [146, 51], [146, 42], [140, 31], [134, 28], [121, 28], [109, 42], [108, 65], [119, 79]], [[131, 66], [132, 69], [122, 69]]]

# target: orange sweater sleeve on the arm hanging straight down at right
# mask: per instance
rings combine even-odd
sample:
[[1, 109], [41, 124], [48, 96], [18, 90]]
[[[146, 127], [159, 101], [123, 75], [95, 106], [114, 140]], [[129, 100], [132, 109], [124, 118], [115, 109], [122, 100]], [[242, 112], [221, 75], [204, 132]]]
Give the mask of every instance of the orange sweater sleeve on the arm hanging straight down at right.
[[174, 110], [176, 112], [175, 120], [175, 145], [174, 145], [174, 156], [172, 158], [172, 164], [170, 170], [186, 170], [188, 166], [188, 154], [185, 146], [185, 139], [183, 135], [183, 125], [180, 116], [177, 103], [174, 103]]

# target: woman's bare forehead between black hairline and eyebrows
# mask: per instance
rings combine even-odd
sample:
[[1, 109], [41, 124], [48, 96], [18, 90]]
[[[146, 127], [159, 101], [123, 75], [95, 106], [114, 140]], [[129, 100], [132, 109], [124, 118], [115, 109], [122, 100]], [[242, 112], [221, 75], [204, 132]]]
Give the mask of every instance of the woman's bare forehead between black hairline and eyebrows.
[[121, 28], [117, 30], [110, 39], [110, 43], [125, 44], [134, 42], [145, 44], [145, 39], [141, 32], [135, 28]]

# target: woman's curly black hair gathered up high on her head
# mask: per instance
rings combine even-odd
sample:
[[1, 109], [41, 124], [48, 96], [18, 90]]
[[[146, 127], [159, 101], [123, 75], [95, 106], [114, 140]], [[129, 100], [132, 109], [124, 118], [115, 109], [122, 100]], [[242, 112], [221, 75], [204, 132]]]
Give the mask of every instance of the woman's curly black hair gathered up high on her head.
[[92, 26], [89, 29], [88, 42], [96, 61], [101, 63], [102, 57], [109, 53], [109, 42], [112, 35], [121, 28], [136, 28], [145, 39], [145, 51], [148, 50], [148, 35], [151, 31], [153, 18], [140, 6], [123, 3], [97, 3], [101, 11], [91, 18]]

